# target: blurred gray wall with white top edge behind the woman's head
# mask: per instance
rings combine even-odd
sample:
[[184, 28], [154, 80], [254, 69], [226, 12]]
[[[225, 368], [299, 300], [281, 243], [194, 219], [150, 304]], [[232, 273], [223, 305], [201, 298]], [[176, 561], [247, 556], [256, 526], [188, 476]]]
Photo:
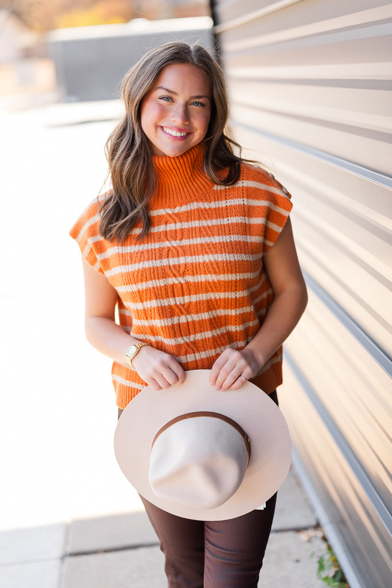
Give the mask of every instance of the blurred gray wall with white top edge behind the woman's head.
[[138, 19], [123, 25], [58, 29], [47, 35], [46, 44], [64, 99], [110, 100], [119, 98], [123, 76], [147, 49], [181, 40], [199, 42], [213, 51], [211, 24], [210, 18], [203, 16], [171, 21]]

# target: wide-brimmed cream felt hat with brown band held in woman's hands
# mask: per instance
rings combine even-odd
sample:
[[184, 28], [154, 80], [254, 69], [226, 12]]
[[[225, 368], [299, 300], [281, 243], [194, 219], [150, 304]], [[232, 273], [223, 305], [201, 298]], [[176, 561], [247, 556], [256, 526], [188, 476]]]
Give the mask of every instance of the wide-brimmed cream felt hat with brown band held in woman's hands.
[[225, 520], [266, 502], [289, 471], [286, 420], [260, 388], [215, 390], [210, 370], [167, 390], [146, 387], [126, 407], [115, 455], [153, 505], [196, 520]]

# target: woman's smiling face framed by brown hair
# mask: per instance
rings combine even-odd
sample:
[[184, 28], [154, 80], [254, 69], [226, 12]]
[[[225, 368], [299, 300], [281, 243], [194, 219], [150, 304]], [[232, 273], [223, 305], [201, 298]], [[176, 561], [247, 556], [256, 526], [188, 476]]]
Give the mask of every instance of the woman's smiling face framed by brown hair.
[[211, 84], [202, 69], [167, 65], [143, 98], [140, 111], [152, 153], [176, 157], [203, 141], [211, 106]]

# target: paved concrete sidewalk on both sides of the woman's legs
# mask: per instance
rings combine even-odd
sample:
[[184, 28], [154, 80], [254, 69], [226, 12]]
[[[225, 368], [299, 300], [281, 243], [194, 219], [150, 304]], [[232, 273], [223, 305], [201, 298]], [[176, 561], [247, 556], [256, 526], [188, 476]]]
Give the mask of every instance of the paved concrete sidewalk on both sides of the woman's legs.
[[[326, 547], [293, 469], [279, 491], [272, 529], [259, 586], [322, 588], [316, 570]], [[2, 588], [167, 586], [144, 512], [2, 532], [0, 553]]]

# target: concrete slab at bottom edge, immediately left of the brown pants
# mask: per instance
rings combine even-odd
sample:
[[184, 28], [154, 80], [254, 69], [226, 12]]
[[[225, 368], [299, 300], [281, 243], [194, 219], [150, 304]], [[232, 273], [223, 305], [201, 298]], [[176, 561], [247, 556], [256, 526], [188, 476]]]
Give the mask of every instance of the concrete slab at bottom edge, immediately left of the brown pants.
[[159, 547], [69, 557], [60, 588], [166, 588], [164, 565]]

